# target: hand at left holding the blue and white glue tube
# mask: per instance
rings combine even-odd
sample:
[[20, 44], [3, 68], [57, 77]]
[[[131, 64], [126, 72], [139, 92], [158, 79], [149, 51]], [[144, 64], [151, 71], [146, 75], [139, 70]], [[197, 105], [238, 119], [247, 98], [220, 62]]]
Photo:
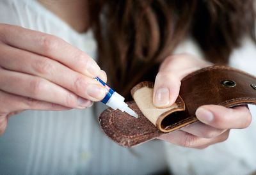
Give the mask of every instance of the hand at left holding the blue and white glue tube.
[[0, 24], [0, 135], [23, 110], [90, 107], [105, 96], [106, 73], [91, 57], [50, 34]]

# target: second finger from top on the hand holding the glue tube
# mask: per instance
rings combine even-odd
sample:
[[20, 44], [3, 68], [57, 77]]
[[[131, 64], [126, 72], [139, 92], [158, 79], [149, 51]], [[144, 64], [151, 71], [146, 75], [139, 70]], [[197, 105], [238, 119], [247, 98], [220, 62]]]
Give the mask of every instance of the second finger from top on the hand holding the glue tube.
[[[0, 65], [8, 70], [43, 77], [88, 100], [99, 101], [106, 95], [99, 82], [57, 61], [10, 46], [0, 47], [0, 52]], [[106, 75], [100, 73], [106, 79]]]

